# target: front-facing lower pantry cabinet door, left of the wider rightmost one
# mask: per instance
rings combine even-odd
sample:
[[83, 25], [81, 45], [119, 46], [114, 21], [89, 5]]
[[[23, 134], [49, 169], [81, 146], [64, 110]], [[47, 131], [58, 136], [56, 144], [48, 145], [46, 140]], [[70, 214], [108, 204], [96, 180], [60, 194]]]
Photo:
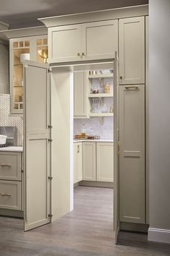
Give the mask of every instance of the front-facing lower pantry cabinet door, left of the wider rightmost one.
[[97, 180], [96, 142], [83, 143], [83, 180]]

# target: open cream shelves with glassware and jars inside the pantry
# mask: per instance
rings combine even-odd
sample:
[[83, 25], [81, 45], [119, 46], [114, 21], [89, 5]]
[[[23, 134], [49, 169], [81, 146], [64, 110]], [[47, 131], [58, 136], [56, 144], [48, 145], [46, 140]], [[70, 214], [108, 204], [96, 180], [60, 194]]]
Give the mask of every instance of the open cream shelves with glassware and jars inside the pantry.
[[113, 70], [89, 71], [89, 117], [113, 116]]

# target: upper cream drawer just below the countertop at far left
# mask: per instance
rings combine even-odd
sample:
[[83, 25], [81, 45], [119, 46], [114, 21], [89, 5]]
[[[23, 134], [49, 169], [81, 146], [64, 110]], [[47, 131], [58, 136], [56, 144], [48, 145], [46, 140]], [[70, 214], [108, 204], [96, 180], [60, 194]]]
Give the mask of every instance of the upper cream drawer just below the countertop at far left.
[[0, 153], [0, 179], [21, 180], [20, 153]]

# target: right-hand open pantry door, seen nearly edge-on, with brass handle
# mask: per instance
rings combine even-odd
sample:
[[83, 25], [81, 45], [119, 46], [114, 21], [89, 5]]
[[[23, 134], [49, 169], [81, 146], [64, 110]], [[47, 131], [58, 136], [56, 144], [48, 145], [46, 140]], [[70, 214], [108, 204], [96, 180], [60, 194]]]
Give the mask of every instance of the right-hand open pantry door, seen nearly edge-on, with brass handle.
[[120, 230], [120, 205], [119, 205], [119, 73], [118, 73], [118, 58], [115, 53], [114, 61], [114, 228], [115, 228], [115, 244]]

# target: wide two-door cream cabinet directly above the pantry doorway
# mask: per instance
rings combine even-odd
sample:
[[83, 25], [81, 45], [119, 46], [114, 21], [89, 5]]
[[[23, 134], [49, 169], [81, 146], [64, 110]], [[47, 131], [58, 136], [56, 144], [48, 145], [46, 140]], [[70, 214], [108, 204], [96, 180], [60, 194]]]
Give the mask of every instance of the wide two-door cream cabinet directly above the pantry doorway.
[[112, 59], [118, 49], [117, 20], [50, 27], [49, 62]]

